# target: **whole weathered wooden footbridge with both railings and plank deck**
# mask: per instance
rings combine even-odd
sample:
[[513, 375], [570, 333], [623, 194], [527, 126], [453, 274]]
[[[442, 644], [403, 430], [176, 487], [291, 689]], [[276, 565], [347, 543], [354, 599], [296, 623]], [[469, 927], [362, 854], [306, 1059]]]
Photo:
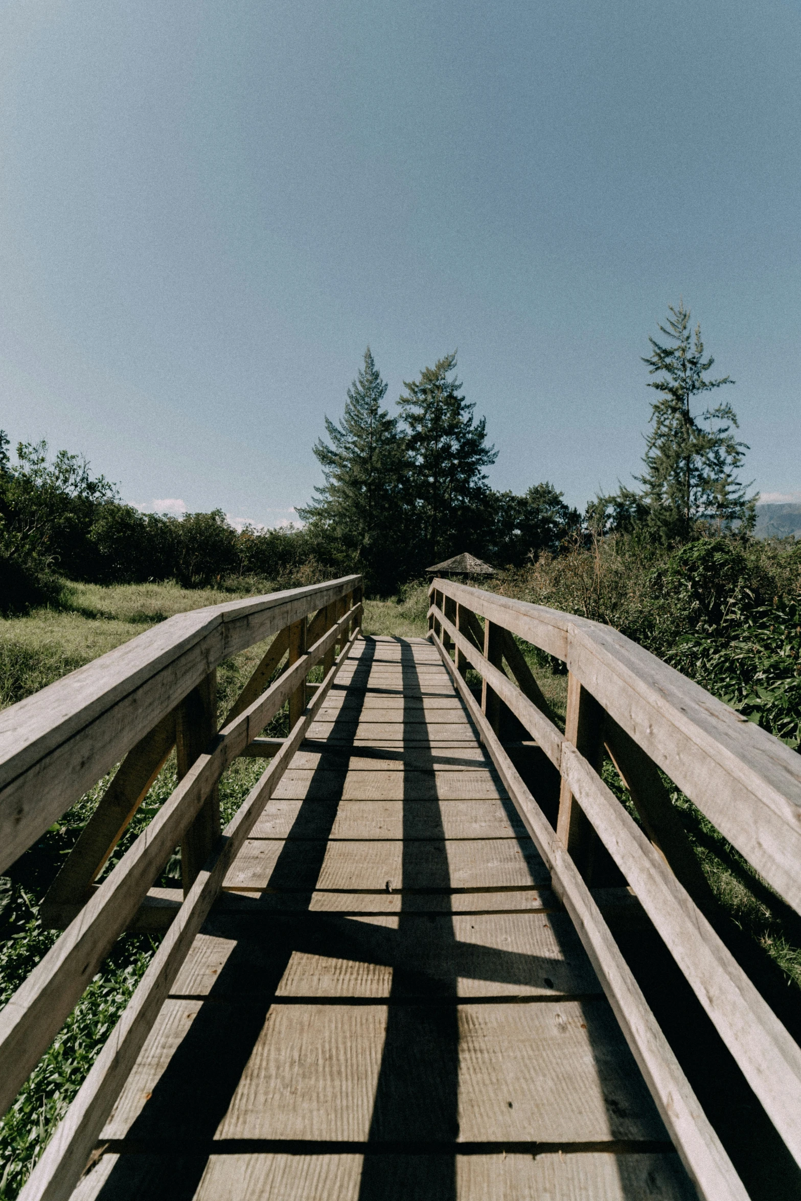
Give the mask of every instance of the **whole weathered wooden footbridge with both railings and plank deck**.
[[[659, 771], [801, 913], [801, 759], [615, 631], [435, 580], [428, 640], [364, 638], [360, 582], [173, 617], [0, 715], [0, 871], [121, 763], [0, 1012], [1, 1111], [115, 939], [163, 931], [24, 1201], [801, 1195], [801, 1051]], [[217, 665], [267, 639], [217, 731]], [[564, 733], [521, 641], [567, 663]], [[221, 831], [243, 754], [269, 761]], [[650, 1006], [660, 955], [686, 996]], [[719, 1045], [704, 1104], [675, 1012]]]

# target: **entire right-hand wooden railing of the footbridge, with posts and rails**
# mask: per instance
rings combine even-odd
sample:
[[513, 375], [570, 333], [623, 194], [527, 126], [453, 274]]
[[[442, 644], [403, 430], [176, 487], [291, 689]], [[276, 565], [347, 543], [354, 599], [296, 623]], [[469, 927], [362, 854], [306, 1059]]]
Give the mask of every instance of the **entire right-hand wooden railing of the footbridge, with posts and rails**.
[[[598, 839], [801, 1164], [801, 1048], [716, 933], [711, 890], [660, 775], [801, 913], [801, 757], [606, 626], [443, 579], [431, 585], [431, 602], [430, 638], [552, 873], [701, 1196], [745, 1194], [590, 891]], [[567, 663], [564, 734], [518, 639]], [[468, 667], [482, 679], [480, 704]], [[500, 736], [504, 706], [560, 772], [556, 827]], [[603, 782], [604, 754], [645, 833]]]

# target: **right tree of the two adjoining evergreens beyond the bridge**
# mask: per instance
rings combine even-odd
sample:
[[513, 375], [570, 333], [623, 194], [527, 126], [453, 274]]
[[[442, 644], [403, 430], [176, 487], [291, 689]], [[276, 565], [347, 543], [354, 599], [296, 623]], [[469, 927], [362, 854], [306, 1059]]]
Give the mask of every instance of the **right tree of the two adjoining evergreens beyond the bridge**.
[[404, 381], [399, 405], [407, 426], [407, 489], [429, 566], [443, 555], [472, 550], [485, 520], [486, 476], [497, 452], [486, 446], [486, 420], [459, 395], [456, 353], [425, 368], [419, 381]]

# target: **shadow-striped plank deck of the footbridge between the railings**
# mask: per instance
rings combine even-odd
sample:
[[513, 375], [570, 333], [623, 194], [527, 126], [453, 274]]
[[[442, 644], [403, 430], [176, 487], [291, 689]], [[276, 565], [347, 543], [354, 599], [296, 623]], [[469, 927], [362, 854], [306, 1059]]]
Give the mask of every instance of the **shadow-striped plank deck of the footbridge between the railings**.
[[73, 1199], [694, 1195], [436, 649], [360, 639]]

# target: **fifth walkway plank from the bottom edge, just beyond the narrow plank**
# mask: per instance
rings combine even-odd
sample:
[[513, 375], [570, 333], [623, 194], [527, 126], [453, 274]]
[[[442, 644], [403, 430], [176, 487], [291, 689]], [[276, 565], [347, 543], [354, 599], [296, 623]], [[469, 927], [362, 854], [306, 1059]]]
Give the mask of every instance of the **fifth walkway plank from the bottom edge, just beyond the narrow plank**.
[[246, 842], [226, 876], [225, 888], [253, 892], [268, 888], [345, 892], [413, 889], [447, 895], [455, 889], [532, 888], [549, 883], [533, 844], [520, 844], [516, 839], [406, 844], [389, 839], [328, 844], [309, 839], [287, 844], [286, 853], [283, 846], [263, 838]]

